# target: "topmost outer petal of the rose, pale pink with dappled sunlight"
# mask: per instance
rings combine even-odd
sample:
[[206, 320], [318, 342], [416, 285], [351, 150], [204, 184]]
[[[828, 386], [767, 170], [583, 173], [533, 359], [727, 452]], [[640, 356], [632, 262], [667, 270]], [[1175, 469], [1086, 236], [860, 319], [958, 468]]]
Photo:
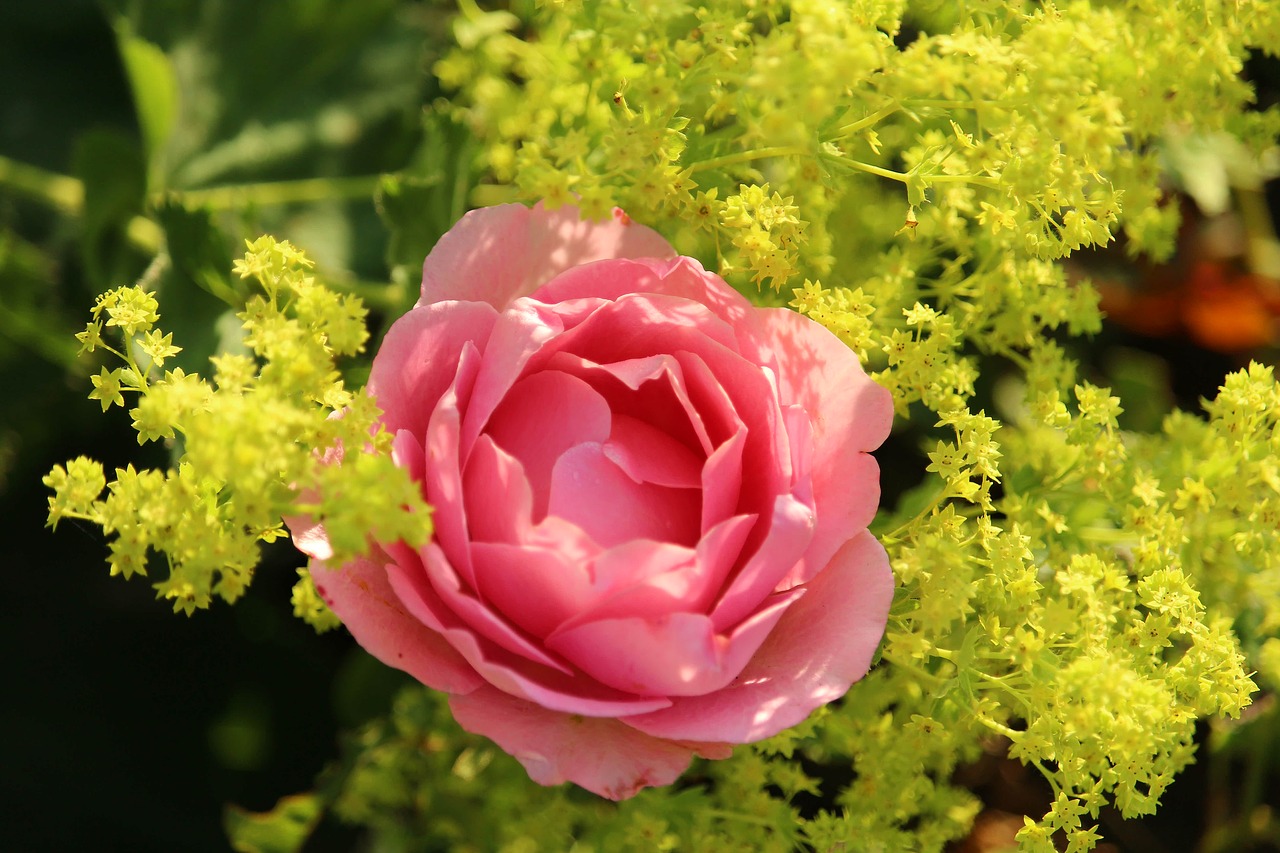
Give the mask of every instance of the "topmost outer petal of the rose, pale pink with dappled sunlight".
[[658, 232], [616, 210], [604, 223], [582, 222], [577, 207], [541, 204], [472, 210], [422, 264], [419, 305], [444, 300], [488, 302], [499, 311], [557, 274], [612, 257], [673, 257]]

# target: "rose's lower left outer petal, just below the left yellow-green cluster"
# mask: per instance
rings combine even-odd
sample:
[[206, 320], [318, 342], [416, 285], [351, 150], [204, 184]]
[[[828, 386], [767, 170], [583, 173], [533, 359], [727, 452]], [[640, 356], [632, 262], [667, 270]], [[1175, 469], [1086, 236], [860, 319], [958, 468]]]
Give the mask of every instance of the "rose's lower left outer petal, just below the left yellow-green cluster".
[[410, 613], [388, 583], [387, 564], [361, 558], [332, 570], [312, 560], [311, 576], [356, 642], [383, 663], [445, 693], [484, 684], [443, 637]]

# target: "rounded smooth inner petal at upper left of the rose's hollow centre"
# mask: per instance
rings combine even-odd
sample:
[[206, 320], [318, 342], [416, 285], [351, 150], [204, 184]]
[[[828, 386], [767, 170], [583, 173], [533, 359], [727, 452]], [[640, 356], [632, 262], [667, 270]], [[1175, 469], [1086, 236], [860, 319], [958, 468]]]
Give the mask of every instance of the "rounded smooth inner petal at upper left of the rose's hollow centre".
[[576, 444], [605, 441], [609, 430], [609, 406], [591, 386], [544, 370], [512, 386], [485, 432], [524, 465], [536, 520], [547, 515], [556, 460]]

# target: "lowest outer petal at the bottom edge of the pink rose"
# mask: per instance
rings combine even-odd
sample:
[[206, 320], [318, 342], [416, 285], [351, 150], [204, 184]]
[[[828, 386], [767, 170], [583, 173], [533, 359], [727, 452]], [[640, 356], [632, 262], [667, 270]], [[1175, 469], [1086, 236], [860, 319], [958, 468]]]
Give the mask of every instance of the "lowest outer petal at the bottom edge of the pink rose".
[[548, 711], [492, 686], [449, 697], [449, 707], [458, 725], [511, 753], [534, 781], [572, 781], [614, 800], [669, 785], [695, 754], [730, 754], [724, 744], [650, 738], [617, 720]]

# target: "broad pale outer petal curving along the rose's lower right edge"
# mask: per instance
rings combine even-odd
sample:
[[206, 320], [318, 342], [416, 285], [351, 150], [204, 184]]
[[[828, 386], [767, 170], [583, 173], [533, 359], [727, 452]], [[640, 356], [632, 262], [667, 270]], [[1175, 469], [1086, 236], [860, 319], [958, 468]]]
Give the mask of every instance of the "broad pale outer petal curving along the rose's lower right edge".
[[753, 743], [844, 695], [867, 675], [884, 633], [893, 598], [888, 555], [864, 530], [805, 588], [727, 688], [622, 721], [657, 738]]

